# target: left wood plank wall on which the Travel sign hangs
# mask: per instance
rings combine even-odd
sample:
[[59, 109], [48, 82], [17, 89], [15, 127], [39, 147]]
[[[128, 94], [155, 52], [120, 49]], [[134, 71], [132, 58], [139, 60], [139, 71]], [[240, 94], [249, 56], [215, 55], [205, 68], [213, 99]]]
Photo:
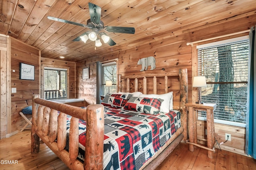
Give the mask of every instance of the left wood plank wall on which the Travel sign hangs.
[[[11, 133], [17, 133], [26, 124], [19, 112], [22, 108], [32, 105], [32, 94], [40, 93], [40, 50], [12, 37], [10, 41], [11, 87], [16, 88], [16, 93], [11, 94]], [[20, 63], [35, 66], [34, 80], [20, 80]]]

